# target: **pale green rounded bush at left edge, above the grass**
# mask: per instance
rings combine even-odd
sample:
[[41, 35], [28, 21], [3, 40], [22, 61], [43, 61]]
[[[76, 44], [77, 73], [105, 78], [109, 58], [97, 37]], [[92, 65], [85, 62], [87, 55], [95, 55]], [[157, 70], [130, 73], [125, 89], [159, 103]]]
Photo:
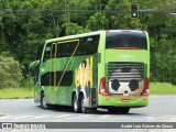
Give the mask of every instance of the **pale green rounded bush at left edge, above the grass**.
[[7, 87], [20, 87], [23, 78], [19, 62], [13, 57], [0, 56], [0, 89]]

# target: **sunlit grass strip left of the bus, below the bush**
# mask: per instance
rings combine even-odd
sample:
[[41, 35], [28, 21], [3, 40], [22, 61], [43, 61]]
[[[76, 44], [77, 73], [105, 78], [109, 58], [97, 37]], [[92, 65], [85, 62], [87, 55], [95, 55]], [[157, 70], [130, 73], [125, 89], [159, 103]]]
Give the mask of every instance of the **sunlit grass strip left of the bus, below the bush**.
[[29, 99], [34, 97], [33, 88], [0, 89], [0, 99]]

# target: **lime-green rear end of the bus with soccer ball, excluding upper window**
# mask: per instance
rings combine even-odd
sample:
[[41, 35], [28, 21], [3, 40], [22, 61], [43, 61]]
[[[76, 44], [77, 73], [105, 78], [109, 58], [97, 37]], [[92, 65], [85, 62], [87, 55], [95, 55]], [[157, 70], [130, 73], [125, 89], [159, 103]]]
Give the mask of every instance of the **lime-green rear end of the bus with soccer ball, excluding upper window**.
[[[141, 31], [138, 31], [138, 32], [143, 33]], [[98, 64], [98, 67], [99, 67], [99, 74], [98, 74], [99, 90], [98, 91], [100, 91], [100, 88], [99, 88], [101, 85], [100, 79], [102, 77], [106, 77], [106, 89], [108, 92], [108, 96], [99, 92], [98, 95], [99, 107], [105, 107], [105, 106], [106, 107], [145, 107], [147, 106], [148, 97], [142, 96], [145, 89], [146, 78], [150, 78], [150, 45], [148, 45], [150, 43], [148, 43], [148, 34], [146, 32], [144, 33], [146, 35], [147, 50], [107, 48], [107, 50], [99, 51], [101, 55], [101, 63]], [[103, 40], [103, 42], [106, 41]], [[106, 45], [106, 43], [103, 45]], [[110, 66], [113, 66], [113, 67], [110, 69]], [[143, 67], [143, 68], [135, 69], [140, 67]], [[132, 72], [121, 72], [120, 68], [132, 68]], [[109, 70], [111, 70], [111, 73], [109, 73]], [[113, 78], [111, 78], [110, 76], [113, 76]], [[136, 78], [140, 80], [136, 80]], [[113, 79], [118, 81], [116, 82], [116, 85], [119, 84], [117, 88], [118, 90], [116, 89], [116, 91], [112, 88], [110, 88], [112, 86], [111, 81], [113, 81]], [[129, 81], [125, 79], [129, 79]], [[136, 88], [135, 90], [131, 90], [131, 88], [129, 88], [131, 81], [133, 84], [138, 82], [138, 85], [140, 85], [138, 86], [139, 88]]]

